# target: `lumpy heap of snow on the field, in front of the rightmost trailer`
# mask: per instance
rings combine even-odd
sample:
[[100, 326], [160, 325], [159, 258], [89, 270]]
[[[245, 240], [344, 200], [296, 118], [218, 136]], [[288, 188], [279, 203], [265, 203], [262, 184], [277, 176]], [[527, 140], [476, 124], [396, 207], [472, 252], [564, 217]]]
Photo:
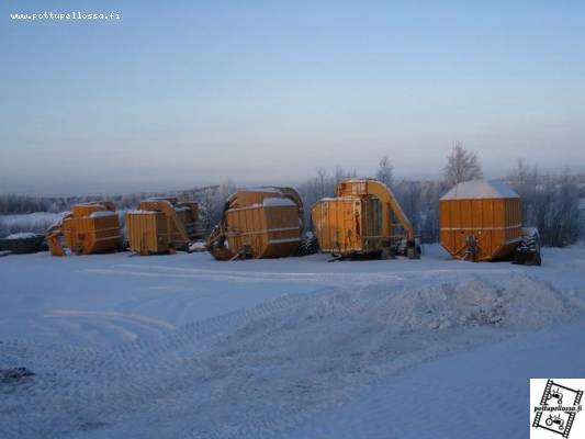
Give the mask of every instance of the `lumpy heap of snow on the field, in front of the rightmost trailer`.
[[525, 275], [500, 283], [468, 280], [406, 290], [383, 299], [373, 314], [408, 330], [477, 325], [526, 329], [571, 316], [553, 289]]

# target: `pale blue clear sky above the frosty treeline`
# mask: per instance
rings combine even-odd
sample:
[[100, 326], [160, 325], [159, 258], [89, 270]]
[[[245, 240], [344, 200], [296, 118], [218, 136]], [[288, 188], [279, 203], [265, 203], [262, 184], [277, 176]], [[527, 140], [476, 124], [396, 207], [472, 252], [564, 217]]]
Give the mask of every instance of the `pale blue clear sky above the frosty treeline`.
[[[455, 140], [585, 171], [582, 1], [0, 4], [0, 191], [437, 177]], [[10, 19], [70, 10], [122, 20]]]

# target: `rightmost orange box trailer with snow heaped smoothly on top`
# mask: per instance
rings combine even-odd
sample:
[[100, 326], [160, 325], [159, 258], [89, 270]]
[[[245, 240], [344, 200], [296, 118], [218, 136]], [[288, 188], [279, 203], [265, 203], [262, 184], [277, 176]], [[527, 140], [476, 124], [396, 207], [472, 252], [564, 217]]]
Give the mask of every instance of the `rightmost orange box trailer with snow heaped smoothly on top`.
[[457, 184], [439, 201], [440, 243], [472, 261], [509, 258], [522, 235], [520, 196], [498, 180]]

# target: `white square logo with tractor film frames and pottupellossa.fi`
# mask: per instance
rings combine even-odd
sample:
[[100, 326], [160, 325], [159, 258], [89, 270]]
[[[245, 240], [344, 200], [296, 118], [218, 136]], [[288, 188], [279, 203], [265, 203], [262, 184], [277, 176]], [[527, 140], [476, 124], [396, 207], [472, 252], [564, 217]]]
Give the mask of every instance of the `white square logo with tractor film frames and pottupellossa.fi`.
[[581, 399], [585, 380], [530, 380], [532, 428], [530, 439], [585, 437], [585, 415]]

